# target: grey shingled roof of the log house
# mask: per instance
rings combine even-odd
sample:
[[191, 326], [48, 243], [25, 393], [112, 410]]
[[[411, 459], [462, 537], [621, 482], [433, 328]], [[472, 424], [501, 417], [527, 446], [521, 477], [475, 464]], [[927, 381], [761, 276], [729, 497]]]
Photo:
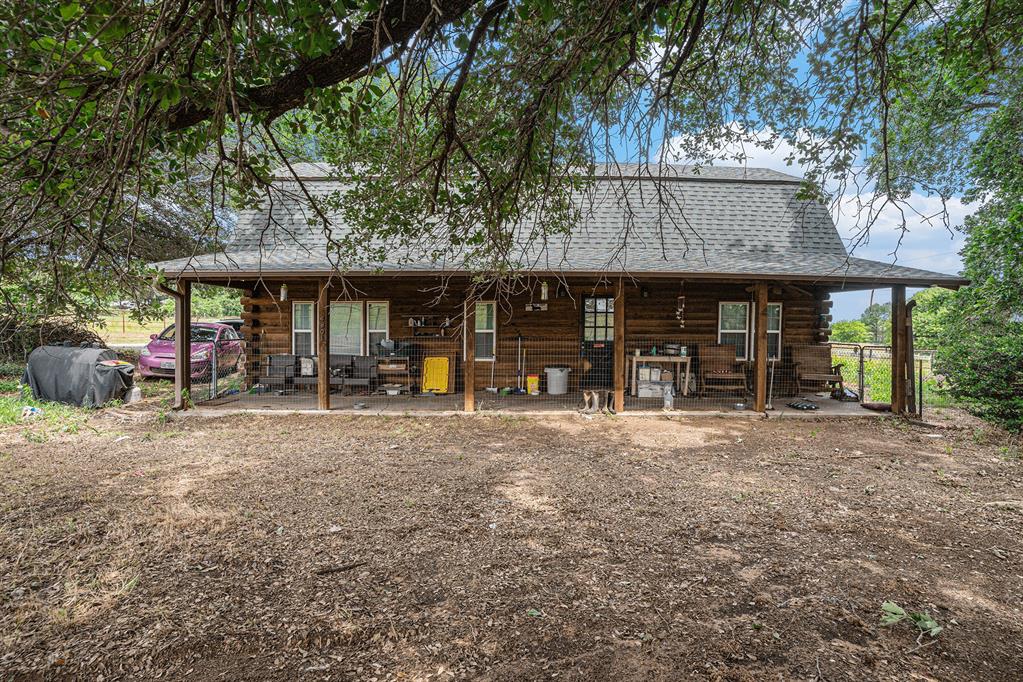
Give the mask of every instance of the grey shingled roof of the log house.
[[[294, 175], [292, 173], [294, 171]], [[330, 169], [298, 164], [281, 173], [264, 207], [243, 212], [223, 253], [157, 264], [171, 278], [327, 274], [327, 237], [305, 192], [324, 197], [345, 185]], [[517, 226], [513, 255], [523, 271], [625, 272], [634, 276], [786, 278], [851, 283], [958, 286], [953, 275], [850, 257], [827, 207], [797, 197], [799, 178], [768, 169], [635, 164], [598, 166], [573, 199], [570, 234], [542, 236], [535, 221]], [[300, 187], [295, 176], [303, 181]], [[347, 231], [338, 217], [330, 234]], [[387, 260], [349, 273], [452, 273], [472, 270], [457, 249], [389, 244]], [[421, 253], [420, 253], [421, 252]]]

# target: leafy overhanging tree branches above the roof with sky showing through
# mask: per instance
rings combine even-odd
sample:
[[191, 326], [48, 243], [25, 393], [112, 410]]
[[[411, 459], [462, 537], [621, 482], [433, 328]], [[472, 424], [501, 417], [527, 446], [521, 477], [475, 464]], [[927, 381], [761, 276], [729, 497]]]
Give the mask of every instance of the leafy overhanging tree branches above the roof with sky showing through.
[[[545, 208], [551, 230], [572, 219], [572, 169], [623, 150], [656, 156], [668, 138], [709, 160], [727, 142], [783, 137], [810, 169], [808, 193], [841, 191], [865, 149], [880, 195], [898, 199], [940, 169], [896, 163], [913, 157], [892, 155], [897, 103], [926, 94], [928, 65], [1013, 67], [1015, 5], [9, 3], [0, 288], [29, 264], [54, 281], [134, 276], [151, 197], [201, 186], [213, 206], [253, 201], [271, 168], [309, 155], [373, 174], [362, 200], [388, 200], [368, 229], [414, 237], [443, 216], [485, 264], [521, 212]], [[979, 87], [949, 108], [988, 96]], [[209, 221], [192, 236], [221, 229]]]

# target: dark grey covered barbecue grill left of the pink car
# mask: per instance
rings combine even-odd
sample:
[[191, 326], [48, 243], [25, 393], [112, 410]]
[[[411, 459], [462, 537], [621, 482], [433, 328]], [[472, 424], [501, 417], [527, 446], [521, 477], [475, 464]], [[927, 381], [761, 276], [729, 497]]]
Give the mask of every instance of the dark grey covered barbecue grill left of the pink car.
[[131, 365], [102, 364], [117, 359], [108, 349], [40, 346], [29, 355], [21, 382], [36, 400], [99, 407], [124, 398], [135, 381]]

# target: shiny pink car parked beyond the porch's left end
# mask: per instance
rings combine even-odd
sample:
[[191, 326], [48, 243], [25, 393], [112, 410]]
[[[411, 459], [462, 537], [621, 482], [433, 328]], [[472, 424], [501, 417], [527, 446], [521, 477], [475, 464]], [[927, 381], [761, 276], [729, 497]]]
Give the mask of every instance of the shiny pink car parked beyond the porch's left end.
[[[174, 378], [174, 325], [151, 339], [138, 358], [139, 374], [146, 378]], [[227, 324], [192, 322], [191, 324], [191, 375], [201, 378], [210, 374], [214, 350], [217, 368], [221, 375], [234, 371], [241, 357], [241, 339]]]

